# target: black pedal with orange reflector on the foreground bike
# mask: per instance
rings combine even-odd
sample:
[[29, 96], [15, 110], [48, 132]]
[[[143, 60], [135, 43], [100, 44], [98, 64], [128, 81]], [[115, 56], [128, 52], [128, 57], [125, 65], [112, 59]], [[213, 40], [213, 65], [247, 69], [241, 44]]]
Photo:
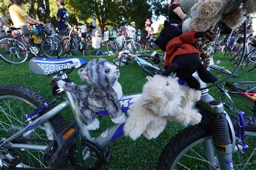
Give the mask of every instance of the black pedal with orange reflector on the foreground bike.
[[58, 133], [46, 148], [42, 161], [51, 168], [57, 168], [63, 164], [63, 156], [69, 150], [79, 133], [79, 127], [76, 123]]

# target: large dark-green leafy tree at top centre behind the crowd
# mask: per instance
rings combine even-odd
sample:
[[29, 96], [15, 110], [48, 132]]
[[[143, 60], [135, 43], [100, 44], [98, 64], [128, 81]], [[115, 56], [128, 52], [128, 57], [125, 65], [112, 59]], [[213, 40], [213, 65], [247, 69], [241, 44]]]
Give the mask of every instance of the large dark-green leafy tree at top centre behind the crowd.
[[76, 11], [75, 13], [79, 20], [86, 21], [88, 18], [96, 18], [102, 30], [105, 26], [116, 27], [123, 20], [126, 20], [126, 22], [134, 21], [142, 28], [146, 18], [151, 18], [152, 16], [150, 5], [146, 0], [132, 2], [69, 0], [68, 5], [72, 6], [73, 10]]

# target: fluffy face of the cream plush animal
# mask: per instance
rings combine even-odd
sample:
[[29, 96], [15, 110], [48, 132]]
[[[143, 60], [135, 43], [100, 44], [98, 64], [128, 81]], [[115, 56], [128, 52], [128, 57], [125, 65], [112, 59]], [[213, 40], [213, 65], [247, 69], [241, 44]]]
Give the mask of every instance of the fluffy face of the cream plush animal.
[[147, 77], [147, 83], [143, 87], [144, 96], [151, 99], [152, 102], [158, 100], [170, 101], [175, 96], [180, 96], [180, 87], [178, 82], [172, 77], [164, 77], [161, 75], [154, 75]]

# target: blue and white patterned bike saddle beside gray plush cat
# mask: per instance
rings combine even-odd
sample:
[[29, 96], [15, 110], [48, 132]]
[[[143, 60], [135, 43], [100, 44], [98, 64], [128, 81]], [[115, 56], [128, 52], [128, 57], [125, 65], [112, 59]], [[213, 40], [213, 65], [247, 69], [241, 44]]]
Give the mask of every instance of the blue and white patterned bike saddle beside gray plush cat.
[[52, 75], [57, 74], [60, 70], [75, 69], [85, 66], [86, 64], [87, 61], [82, 58], [32, 58], [29, 62], [29, 69], [35, 74]]

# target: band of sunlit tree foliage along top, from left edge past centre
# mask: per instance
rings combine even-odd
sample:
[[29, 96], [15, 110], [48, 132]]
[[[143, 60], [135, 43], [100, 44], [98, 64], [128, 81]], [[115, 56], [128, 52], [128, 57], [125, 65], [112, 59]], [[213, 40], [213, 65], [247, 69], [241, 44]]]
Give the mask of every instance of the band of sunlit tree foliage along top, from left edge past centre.
[[[9, 13], [11, 3], [12, 0], [0, 1], [1, 15]], [[147, 0], [66, 0], [65, 8], [70, 12], [70, 23], [73, 25], [85, 22], [89, 26], [92, 18], [96, 18], [101, 29], [105, 26], [119, 27], [123, 21], [127, 24], [136, 22], [136, 26], [143, 29], [146, 18], [152, 18], [153, 13], [155, 16], [166, 16], [166, 3]], [[51, 18], [52, 24], [57, 24], [56, 0], [24, 0], [22, 9], [35, 19], [45, 22]]]

